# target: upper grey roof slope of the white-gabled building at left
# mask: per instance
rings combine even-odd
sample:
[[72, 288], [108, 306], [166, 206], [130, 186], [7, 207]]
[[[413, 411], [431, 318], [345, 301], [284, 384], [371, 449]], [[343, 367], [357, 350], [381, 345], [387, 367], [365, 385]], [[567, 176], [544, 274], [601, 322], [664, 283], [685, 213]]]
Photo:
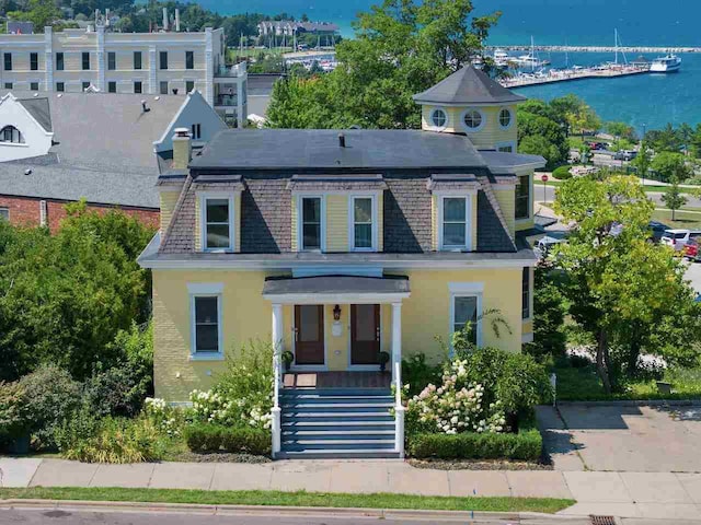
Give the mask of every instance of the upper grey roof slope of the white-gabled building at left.
[[[33, 92], [12, 94], [31, 112], [41, 112]], [[45, 100], [56, 142], [50, 151], [61, 164], [106, 170], [128, 166], [151, 174], [158, 168], [153, 142], [161, 138], [185, 95], [51, 93]], [[149, 112], [142, 110], [141, 101]]]

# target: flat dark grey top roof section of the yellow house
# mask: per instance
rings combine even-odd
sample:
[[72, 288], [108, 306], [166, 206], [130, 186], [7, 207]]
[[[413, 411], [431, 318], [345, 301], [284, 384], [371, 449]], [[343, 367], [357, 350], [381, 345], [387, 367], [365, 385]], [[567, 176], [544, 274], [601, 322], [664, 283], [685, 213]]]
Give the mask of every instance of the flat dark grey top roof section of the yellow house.
[[[346, 147], [340, 145], [338, 135]], [[467, 137], [388, 129], [228, 129], [217, 133], [195, 170], [485, 167]]]

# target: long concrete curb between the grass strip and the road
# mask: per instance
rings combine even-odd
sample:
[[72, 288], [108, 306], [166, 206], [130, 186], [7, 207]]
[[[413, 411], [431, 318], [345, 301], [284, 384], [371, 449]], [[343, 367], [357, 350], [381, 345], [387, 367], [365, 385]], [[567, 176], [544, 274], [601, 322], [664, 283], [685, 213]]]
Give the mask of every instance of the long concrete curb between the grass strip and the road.
[[14, 509], [72, 509], [83, 511], [114, 511], [114, 512], [171, 512], [182, 514], [217, 514], [217, 515], [274, 515], [274, 516], [340, 516], [340, 517], [375, 517], [386, 518], [418, 518], [422, 521], [470, 521], [482, 522], [517, 521], [520, 518], [537, 518], [543, 522], [558, 520], [577, 521], [585, 516], [556, 516], [535, 512], [470, 512], [470, 511], [427, 511], [404, 509], [358, 509], [358, 508], [326, 508], [326, 506], [262, 506], [262, 505], [207, 505], [194, 503], [147, 503], [125, 501], [82, 501], [82, 500], [31, 500], [9, 499], [0, 500], [0, 508]]

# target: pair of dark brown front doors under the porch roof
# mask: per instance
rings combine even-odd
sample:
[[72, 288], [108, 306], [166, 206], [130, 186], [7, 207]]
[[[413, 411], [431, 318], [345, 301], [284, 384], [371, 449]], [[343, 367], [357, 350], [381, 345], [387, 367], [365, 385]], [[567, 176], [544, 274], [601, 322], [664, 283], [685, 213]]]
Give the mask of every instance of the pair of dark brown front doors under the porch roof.
[[[350, 364], [371, 365], [379, 362], [380, 305], [352, 304]], [[295, 306], [295, 364], [325, 364], [324, 306]]]

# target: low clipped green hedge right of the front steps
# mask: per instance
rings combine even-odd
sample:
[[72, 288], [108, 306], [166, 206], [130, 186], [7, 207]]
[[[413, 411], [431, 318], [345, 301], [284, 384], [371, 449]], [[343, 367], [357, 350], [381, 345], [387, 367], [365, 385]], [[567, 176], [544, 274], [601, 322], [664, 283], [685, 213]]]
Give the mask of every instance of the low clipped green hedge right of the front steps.
[[517, 434], [475, 433], [415, 434], [406, 439], [406, 452], [416, 458], [438, 459], [540, 459], [543, 439], [531, 421]]

